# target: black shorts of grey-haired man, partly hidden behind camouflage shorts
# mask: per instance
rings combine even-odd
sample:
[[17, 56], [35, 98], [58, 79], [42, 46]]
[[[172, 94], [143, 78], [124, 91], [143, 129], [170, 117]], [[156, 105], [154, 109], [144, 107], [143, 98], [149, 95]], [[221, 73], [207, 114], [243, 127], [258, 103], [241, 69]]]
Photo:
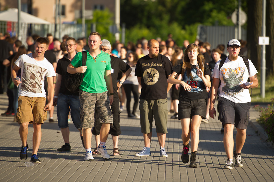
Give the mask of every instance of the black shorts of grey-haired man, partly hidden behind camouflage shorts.
[[[119, 136], [121, 132], [120, 128], [120, 111], [119, 111], [119, 98], [113, 98], [113, 103], [111, 105], [112, 115], [113, 115], [113, 123], [110, 126], [109, 134], [113, 136]], [[98, 120], [95, 119], [94, 127], [92, 128], [92, 134], [99, 135], [102, 124]]]

